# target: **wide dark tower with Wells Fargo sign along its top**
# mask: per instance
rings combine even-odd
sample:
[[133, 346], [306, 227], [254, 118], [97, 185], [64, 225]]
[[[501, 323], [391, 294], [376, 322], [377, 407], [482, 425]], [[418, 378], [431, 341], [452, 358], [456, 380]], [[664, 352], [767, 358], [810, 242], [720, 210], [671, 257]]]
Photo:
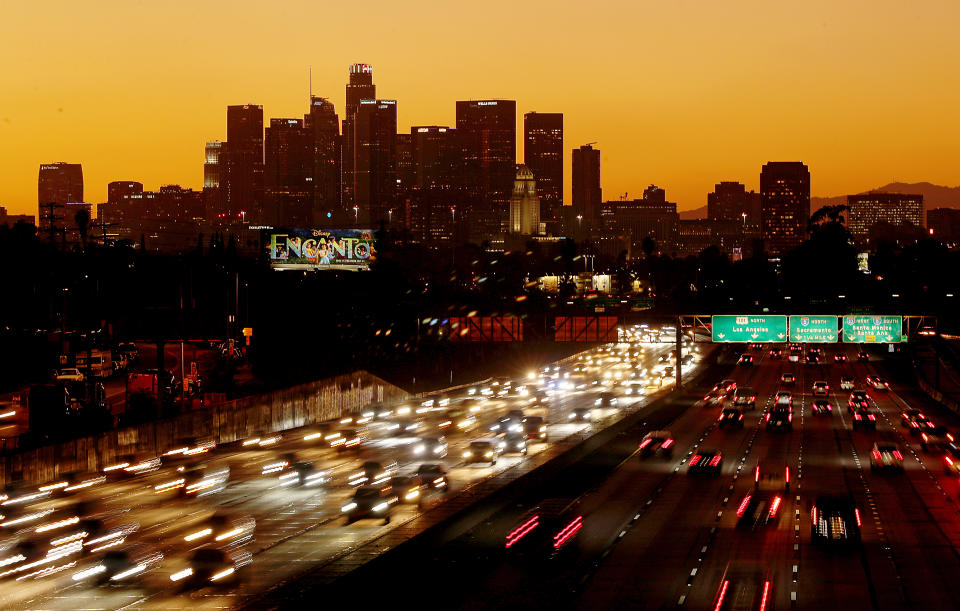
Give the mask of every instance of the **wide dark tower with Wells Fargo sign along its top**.
[[457, 135], [463, 157], [461, 218], [474, 239], [499, 235], [507, 220], [517, 158], [517, 103], [514, 100], [457, 102]]

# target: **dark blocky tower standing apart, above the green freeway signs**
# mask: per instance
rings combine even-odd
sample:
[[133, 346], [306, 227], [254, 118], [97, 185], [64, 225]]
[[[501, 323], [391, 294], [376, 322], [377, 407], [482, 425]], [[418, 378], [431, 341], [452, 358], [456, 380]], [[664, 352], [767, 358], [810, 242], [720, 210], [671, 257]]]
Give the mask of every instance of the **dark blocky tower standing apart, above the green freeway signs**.
[[770, 161], [760, 171], [760, 235], [767, 252], [800, 245], [810, 219], [810, 170], [800, 161]]

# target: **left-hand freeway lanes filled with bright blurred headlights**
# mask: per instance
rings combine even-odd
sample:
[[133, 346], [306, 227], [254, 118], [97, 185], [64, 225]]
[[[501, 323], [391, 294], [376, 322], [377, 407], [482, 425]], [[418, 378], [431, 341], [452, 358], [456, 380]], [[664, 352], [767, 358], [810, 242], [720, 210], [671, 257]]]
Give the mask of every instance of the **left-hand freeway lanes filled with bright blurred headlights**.
[[[178, 609], [240, 605], [281, 581], [403, 528], [459, 491], [548, 450], [553, 440], [607, 426], [622, 409], [606, 405], [601, 400], [604, 392], [613, 392], [624, 403], [644, 404], [649, 394], [672, 383], [669, 377], [661, 382], [653, 373], [665, 366], [663, 359], [670, 347], [636, 344], [633, 353], [605, 347], [564, 367], [499, 379], [496, 385], [477, 385], [455, 395], [437, 395], [429, 398], [432, 403], [372, 408], [369, 414], [355, 414], [352, 421], [328, 423], [322, 429], [280, 435], [264, 432], [230, 447], [211, 448], [203, 440], [185, 440], [191, 456], [164, 456], [160, 468], [128, 473], [123, 478], [114, 476], [125, 470], [111, 471], [106, 481], [92, 472], [63, 480], [70, 486], [51, 482], [53, 488], [46, 491], [36, 487], [8, 490], [4, 502], [24, 499], [29, 511], [0, 517], [0, 579], [8, 584], [0, 590], [0, 606]], [[538, 389], [545, 389], [546, 394], [538, 395]], [[538, 396], [546, 399], [545, 405], [534, 401]], [[504, 455], [489, 466], [466, 465], [462, 456], [470, 441], [493, 434], [491, 427], [501, 422], [508, 410], [518, 408], [527, 416], [545, 418], [545, 442], [531, 443], [526, 456]], [[592, 418], [573, 418], [583, 413]], [[401, 427], [406, 430], [399, 432]], [[445, 458], [439, 452], [432, 460], [415, 455], [420, 440], [441, 435], [449, 444]], [[156, 458], [132, 457], [130, 462]], [[390, 470], [388, 476], [414, 473], [424, 462], [441, 462], [450, 492], [421, 489], [416, 502], [392, 508], [389, 524], [380, 519], [347, 524], [341, 508], [366, 477], [364, 462], [371, 460], [380, 463], [378, 471]], [[396, 465], [391, 467], [393, 461]], [[273, 471], [273, 465], [283, 462], [290, 464]], [[313, 473], [323, 475], [323, 485], [284, 485], [278, 474], [290, 474], [287, 467], [296, 463], [312, 465]], [[193, 485], [203, 493], [184, 498], [188, 488], [181, 480], [198, 473], [200, 467], [202, 479]], [[226, 481], [219, 475], [225, 473], [229, 473]], [[68, 492], [73, 486], [76, 489]], [[38, 494], [39, 498], [31, 498]], [[34, 515], [39, 516], [36, 521], [17, 521]], [[78, 521], [88, 524], [90, 518], [102, 523], [97, 526], [100, 532], [75, 527]], [[221, 531], [222, 535], [218, 534]], [[122, 536], [115, 534], [118, 532]], [[210, 539], [215, 536], [218, 541], [222, 536], [223, 541], [213, 544]], [[109, 537], [114, 537], [110, 545], [102, 544]], [[101, 543], [88, 545], [95, 541]], [[150, 561], [135, 562], [132, 573], [122, 573], [118, 583], [123, 587], [98, 587], [98, 575], [107, 571], [106, 548], [114, 542], [117, 550], [135, 549]], [[211, 578], [216, 581], [216, 576], [224, 576], [223, 582], [207, 579], [184, 587], [181, 584], [192, 579], [190, 571], [201, 574], [195, 554], [206, 549], [227, 553]]]

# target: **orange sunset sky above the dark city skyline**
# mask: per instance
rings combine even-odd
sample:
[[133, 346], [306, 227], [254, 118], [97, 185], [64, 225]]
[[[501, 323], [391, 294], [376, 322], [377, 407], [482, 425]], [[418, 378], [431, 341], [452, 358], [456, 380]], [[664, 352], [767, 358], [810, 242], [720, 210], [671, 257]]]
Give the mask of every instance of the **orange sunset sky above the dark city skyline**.
[[960, 183], [957, 0], [47, 0], [0, 11], [0, 205], [37, 211], [37, 170], [202, 186], [226, 106], [343, 111], [373, 65], [399, 129], [453, 125], [454, 101], [563, 112], [569, 150], [603, 152], [605, 199], [656, 183], [681, 209], [768, 160], [810, 166], [814, 195], [893, 180]]

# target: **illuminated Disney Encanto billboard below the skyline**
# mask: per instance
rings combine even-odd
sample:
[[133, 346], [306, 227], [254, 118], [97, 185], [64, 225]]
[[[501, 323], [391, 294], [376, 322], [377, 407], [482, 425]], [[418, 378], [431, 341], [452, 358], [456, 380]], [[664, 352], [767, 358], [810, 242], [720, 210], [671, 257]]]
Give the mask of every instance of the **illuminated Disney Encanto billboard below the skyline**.
[[376, 257], [372, 229], [272, 229], [267, 255], [275, 269], [369, 269]]

